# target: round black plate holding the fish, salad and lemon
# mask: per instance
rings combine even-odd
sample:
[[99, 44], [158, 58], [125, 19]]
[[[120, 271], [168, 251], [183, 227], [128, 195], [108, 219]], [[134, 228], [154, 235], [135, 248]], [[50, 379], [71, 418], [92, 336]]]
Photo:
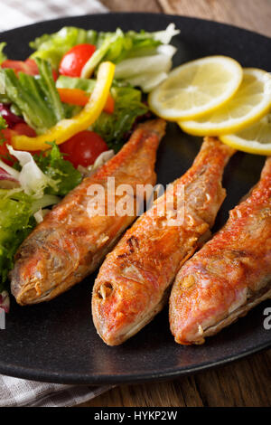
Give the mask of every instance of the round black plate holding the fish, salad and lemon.
[[[271, 71], [271, 39], [233, 26], [164, 14], [98, 14], [34, 24], [2, 33], [10, 58], [30, 54], [28, 42], [63, 25], [102, 31], [161, 30], [171, 22], [182, 30], [175, 37], [174, 65], [210, 54], [224, 54], [243, 66]], [[157, 159], [158, 182], [168, 184], [192, 165], [201, 144], [175, 125], [169, 125]], [[228, 196], [215, 229], [228, 218], [229, 209], [257, 182], [264, 157], [238, 153], [225, 171]], [[90, 296], [95, 276], [50, 303], [19, 307], [12, 300], [6, 329], [0, 330], [0, 372], [37, 381], [62, 383], [143, 382], [192, 373], [225, 364], [271, 345], [264, 329], [266, 301], [247, 317], [208, 339], [202, 346], [183, 347], [173, 342], [167, 311], [154, 318], [126, 344], [107, 347], [91, 321]]]

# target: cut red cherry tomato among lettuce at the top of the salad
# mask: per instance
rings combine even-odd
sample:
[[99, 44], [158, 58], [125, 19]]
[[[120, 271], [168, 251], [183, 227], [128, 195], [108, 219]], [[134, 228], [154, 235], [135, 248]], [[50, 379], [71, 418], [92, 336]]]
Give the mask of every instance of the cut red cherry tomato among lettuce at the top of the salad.
[[89, 61], [89, 58], [96, 51], [96, 47], [92, 44], [78, 44], [64, 54], [60, 64], [60, 74], [69, 77], [79, 77], [81, 71]]

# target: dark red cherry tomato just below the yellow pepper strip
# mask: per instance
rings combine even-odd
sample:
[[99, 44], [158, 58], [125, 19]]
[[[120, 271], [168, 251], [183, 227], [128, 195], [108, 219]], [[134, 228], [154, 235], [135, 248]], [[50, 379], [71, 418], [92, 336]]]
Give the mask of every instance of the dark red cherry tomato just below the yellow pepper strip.
[[63, 154], [67, 154], [66, 159], [78, 167], [78, 165], [94, 164], [98, 156], [108, 150], [108, 146], [97, 133], [85, 130], [70, 137], [60, 146], [60, 149]]

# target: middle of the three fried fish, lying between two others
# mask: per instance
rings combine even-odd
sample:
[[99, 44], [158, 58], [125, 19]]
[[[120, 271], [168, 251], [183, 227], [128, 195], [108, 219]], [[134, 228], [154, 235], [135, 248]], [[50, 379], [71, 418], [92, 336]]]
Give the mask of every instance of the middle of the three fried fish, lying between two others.
[[173, 183], [184, 188], [183, 222], [168, 225], [171, 210], [161, 212], [164, 195], [143, 214], [107, 255], [92, 294], [92, 316], [107, 345], [119, 345], [164, 307], [168, 288], [183, 261], [208, 235], [225, 197], [221, 187], [224, 166], [234, 150], [206, 137], [192, 168]]

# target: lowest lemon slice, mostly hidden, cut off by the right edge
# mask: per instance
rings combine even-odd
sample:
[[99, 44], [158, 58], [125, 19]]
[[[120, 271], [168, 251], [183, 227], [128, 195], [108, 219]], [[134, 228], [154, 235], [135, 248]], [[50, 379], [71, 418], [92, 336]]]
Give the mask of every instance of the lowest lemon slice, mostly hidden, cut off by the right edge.
[[220, 140], [249, 154], [271, 155], [271, 114], [235, 135], [220, 136]]

